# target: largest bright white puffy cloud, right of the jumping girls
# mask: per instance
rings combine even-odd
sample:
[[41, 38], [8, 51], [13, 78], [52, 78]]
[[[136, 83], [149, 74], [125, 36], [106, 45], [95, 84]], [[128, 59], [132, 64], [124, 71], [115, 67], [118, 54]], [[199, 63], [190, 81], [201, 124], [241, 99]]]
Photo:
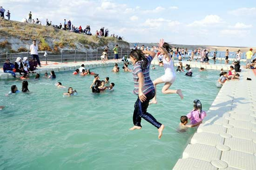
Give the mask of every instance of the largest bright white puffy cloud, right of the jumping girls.
[[207, 15], [202, 20], [195, 20], [188, 26], [212, 26], [213, 24], [223, 23], [222, 19], [218, 15]]

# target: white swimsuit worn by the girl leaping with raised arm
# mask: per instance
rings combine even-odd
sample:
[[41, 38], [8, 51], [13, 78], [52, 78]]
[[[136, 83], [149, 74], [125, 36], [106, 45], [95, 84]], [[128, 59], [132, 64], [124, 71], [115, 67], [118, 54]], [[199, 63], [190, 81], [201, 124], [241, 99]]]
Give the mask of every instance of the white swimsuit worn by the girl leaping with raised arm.
[[[170, 55], [169, 55], [170, 57]], [[162, 81], [165, 83], [174, 83], [176, 74], [172, 62], [172, 58], [170, 57], [170, 61], [167, 61], [165, 57], [163, 57], [163, 67], [164, 67], [164, 75], [162, 75]]]

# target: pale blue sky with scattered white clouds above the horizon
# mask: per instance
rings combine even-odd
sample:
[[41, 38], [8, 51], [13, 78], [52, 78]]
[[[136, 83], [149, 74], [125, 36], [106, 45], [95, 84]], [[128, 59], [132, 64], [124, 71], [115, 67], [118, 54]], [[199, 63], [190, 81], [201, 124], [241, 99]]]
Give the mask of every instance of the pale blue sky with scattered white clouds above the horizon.
[[256, 46], [256, 1], [253, 0], [0, 0], [11, 20], [32, 11], [42, 24], [71, 20], [105, 26], [128, 42], [167, 42], [188, 45]]

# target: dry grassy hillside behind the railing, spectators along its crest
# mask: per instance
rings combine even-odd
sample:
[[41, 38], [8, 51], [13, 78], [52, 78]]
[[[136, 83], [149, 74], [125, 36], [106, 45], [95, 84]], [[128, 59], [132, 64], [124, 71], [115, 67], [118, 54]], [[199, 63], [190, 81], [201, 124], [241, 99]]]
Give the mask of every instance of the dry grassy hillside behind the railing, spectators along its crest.
[[121, 45], [124, 49], [129, 48], [127, 42], [112, 37], [98, 38], [56, 29], [52, 26], [40, 26], [0, 18], [0, 51], [27, 51], [33, 39], [38, 41], [40, 51], [58, 52], [61, 49], [85, 51], [103, 48], [107, 45], [112, 47], [115, 44]]

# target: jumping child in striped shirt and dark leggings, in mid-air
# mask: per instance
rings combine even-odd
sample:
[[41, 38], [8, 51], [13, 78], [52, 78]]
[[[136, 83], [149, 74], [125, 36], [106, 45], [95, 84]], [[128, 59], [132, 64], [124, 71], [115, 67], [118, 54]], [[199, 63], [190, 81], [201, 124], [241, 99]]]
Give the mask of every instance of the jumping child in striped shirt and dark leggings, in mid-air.
[[[146, 55], [148, 57], [146, 58]], [[159, 123], [150, 113], [147, 112], [149, 101], [155, 96], [155, 87], [150, 79], [149, 70], [150, 63], [155, 57], [155, 52], [141, 51], [135, 49], [130, 52], [130, 59], [134, 65], [133, 68], [133, 81], [134, 81], [134, 94], [138, 96], [133, 113], [133, 124], [129, 130], [141, 129], [141, 118], [144, 118], [150, 124], [158, 129], [158, 138], [162, 137], [164, 125]]]

